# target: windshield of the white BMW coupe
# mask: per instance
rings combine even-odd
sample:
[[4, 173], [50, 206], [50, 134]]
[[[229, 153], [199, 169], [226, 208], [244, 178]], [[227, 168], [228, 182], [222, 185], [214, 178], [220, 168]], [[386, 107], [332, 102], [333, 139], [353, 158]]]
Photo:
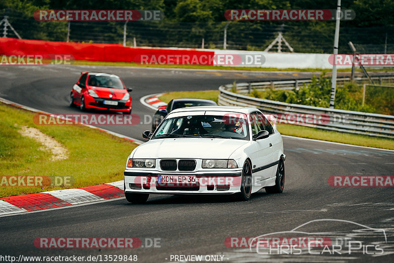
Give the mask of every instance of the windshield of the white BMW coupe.
[[249, 140], [247, 122], [243, 118], [223, 115], [189, 115], [165, 119], [152, 139], [207, 137]]

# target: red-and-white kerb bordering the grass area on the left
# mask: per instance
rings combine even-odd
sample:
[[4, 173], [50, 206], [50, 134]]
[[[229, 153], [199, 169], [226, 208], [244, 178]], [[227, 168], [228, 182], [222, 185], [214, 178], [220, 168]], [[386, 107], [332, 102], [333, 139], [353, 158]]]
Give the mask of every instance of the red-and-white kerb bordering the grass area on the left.
[[[43, 113], [48, 115], [51, 114], [3, 98], [0, 98], [0, 102], [35, 113]], [[102, 132], [112, 134], [116, 137], [129, 140], [136, 144], [142, 143], [142, 141], [136, 140], [134, 138], [116, 132], [101, 129], [80, 122], [76, 122], [76, 123], [93, 129], [100, 130]], [[30, 211], [36, 211], [42, 209], [64, 207], [70, 205], [78, 205], [78, 204], [102, 201], [102, 200], [122, 197], [122, 196], [124, 196], [123, 181], [117, 181], [117, 182], [101, 184], [91, 187], [54, 190], [54, 191], [47, 191], [40, 193], [2, 197], [0, 198], [0, 216], [9, 215], [9, 214], [18, 214], [18, 213], [30, 212]]]

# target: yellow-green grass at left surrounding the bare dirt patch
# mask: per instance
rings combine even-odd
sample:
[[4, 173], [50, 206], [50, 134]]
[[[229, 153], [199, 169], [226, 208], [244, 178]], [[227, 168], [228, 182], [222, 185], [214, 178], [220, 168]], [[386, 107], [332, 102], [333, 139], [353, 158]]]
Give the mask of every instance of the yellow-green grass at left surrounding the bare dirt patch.
[[[36, 125], [25, 110], [0, 103], [0, 176], [71, 176], [80, 188], [123, 179], [127, 156], [137, 145], [82, 125]], [[68, 150], [68, 158], [50, 161], [51, 153], [19, 134], [21, 125], [35, 127]], [[0, 187], [0, 197], [64, 187]]]

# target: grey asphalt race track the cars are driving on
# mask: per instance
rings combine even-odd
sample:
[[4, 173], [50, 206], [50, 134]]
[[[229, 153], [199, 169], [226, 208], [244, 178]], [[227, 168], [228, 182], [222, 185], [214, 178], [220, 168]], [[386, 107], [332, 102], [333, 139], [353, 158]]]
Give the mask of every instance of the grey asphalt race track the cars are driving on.
[[[139, 102], [142, 96], [148, 94], [216, 89], [234, 80], [311, 76], [307, 72], [4, 66], [0, 68], [0, 97], [50, 113], [80, 113], [79, 109], [68, 107], [68, 94], [81, 71], [108, 72], [121, 76], [126, 86], [133, 88], [132, 113], [141, 118], [144, 114], [154, 113], [154, 110]], [[142, 140], [141, 133], [149, 129], [150, 124], [101, 127]], [[234, 202], [228, 196], [160, 195], [151, 196], [144, 205], [129, 204], [124, 198], [117, 198], [64, 209], [6, 216], [1, 218], [0, 223], [2, 254], [17, 257], [137, 255], [138, 262], [149, 263], [175, 262], [174, 255], [203, 255], [203, 259], [205, 255], [217, 255], [219, 260], [223, 256], [223, 262], [393, 262], [393, 187], [331, 187], [328, 178], [338, 175], [393, 175], [394, 151], [289, 137], [284, 138], [284, 147], [287, 155], [286, 184], [282, 194], [266, 194], [261, 190], [248, 202]], [[314, 236], [329, 236], [331, 240], [337, 238], [343, 241], [346, 237], [360, 243], [354, 243], [352, 249], [343, 244], [341, 254], [332, 251], [323, 253], [321, 250], [315, 250], [312, 254], [306, 249], [302, 255], [294, 251], [292, 254], [276, 250], [263, 254], [247, 247], [229, 248], [225, 244], [228, 237], [255, 237], [291, 231], [299, 225], [319, 219], [337, 221], [311, 222], [302, 227], [304, 234], [301, 236], [315, 233]], [[355, 224], [350, 222], [362, 226], [357, 225], [358, 229], [355, 230]], [[384, 229], [387, 241], [381, 231], [368, 227]], [[38, 237], [138, 237], [143, 247], [38, 249], [33, 244]], [[156, 248], [150, 242], [155, 238], [160, 242]], [[366, 244], [373, 244], [374, 247], [368, 248]], [[347, 253], [349, 250], [350, 253]]]

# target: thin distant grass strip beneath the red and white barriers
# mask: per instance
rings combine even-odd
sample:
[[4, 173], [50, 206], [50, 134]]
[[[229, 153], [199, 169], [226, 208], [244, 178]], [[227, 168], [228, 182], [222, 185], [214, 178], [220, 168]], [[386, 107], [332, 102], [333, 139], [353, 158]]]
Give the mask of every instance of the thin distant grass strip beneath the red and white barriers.
[[[76, 60], [72, 62], [73, 65], [92, 65], [92, 66], [118, 66], [118, 67], [141, 67], [141, 68], [170, 68], [170, 69], [202, 69], [202, 70], [244, 70], [244, 71], [305, 71], [305, 72], [329, 72], [327, 69], [277, 69], [277, 68], [253, 68], [253, 67], [225, 67], [212, 65], [154, 65], [154, 64], [140, 64], [135, 62], [103, 62], [103, 61], [86, 61]], [[338, 69], [338, 72], [350, 72], [350, 69]], [[361, 69], [356, 68], [356, 72], [362, 72]], [[394, 68], [382, 69], [368, 69], [368, 72], [392, 72]]]

